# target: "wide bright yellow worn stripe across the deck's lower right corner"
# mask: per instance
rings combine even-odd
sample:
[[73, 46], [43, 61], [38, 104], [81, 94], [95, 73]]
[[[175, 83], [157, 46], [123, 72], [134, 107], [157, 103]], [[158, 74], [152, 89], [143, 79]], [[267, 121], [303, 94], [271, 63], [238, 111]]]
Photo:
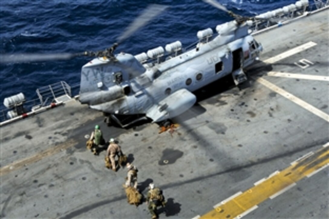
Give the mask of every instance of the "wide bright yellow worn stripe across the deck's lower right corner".
[[216, 207], [214, 210], [202, 215], [200, 218], [235, 218], [243, 216], [246, 211], [257, 208], [257, 205], [280, 191], [288, 190], [297, 181], [328, 166], [329, 148], [324, 147], [313, 155], [301, 159], [290, 167], [267, 178], [264, 182], [248, 189], [239, 196]]

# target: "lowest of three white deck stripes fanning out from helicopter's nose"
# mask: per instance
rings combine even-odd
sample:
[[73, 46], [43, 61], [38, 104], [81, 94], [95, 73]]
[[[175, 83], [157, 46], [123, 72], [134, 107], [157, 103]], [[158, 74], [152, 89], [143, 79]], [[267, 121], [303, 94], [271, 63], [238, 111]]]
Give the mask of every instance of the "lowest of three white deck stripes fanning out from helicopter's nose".
[[284, 89], [270, 83], [269, 81], [266, 81], [263, 78], [258, 78], [256, 81], [261, 83], [262, 85], [266, 86], [267, 88], [273, 90], [274, 92], [282, 95], [283, 97], [291, 100], [292, 102], [301, 106], [302, 108], [307, 109], [308, 111], [310, 111], [313, 114], [317, 115], [318, 117], [324, 119], [325, 121], [329, 122], [329, 115], [327, 113], [313, 107], [312, 105], [306, 103], [305, 101], [299, 99], [298, 97], [292, 95], [291, 93], [285, 91]]

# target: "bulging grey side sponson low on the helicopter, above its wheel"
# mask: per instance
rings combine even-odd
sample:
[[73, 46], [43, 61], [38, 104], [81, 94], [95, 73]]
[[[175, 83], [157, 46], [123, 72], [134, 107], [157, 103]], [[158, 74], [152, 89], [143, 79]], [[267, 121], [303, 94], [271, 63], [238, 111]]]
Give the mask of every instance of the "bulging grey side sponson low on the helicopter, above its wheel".
[[158, 104], [147, 110], [146, 116], [153, 122], [160, 122], [175, 117], [190, 109], [196, 102], [196, 96], [183, 88], [170, 94]]

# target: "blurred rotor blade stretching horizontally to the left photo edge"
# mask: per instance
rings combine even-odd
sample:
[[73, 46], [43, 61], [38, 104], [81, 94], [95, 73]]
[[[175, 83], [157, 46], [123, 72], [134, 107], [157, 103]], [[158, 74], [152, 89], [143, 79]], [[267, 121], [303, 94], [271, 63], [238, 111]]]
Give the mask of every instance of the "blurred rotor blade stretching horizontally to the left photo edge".
[[0, 55], [0, 63], [21, 63], [21, 62], [36, 62], [36, 61], [55, 61], [69, 60], [77, 56], [84, 56], [85, 53], [57, 53], [57, 54], [13, 54]]

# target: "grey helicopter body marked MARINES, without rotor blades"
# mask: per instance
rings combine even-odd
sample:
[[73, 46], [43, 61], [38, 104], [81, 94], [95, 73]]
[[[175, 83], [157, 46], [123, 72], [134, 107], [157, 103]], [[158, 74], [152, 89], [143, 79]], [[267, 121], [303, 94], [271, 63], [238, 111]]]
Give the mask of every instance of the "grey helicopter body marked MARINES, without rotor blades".
[[181, 114], [196, 102], [191, 92], [228, 74], [239, 84], [242, 68], [259, 56], [262, 47], [247, 25], [234, 22], [217, 26], [218, 36], [189, 51], [143, 64], [126, 53], [92, 60], [82, 68], [80, 101], [110, 114], [146, 114], [154, 122]]

